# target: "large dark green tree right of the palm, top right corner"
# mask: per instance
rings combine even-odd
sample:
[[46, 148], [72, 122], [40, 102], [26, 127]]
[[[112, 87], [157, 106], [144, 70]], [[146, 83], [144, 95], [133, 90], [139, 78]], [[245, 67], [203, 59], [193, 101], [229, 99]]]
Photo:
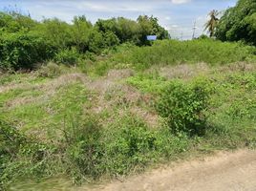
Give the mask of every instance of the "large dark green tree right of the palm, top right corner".
[[239, 0], [234, 8], [225, 11], [216, 36], [223, 41], [243, 40], [256, 45], [256, 1]]

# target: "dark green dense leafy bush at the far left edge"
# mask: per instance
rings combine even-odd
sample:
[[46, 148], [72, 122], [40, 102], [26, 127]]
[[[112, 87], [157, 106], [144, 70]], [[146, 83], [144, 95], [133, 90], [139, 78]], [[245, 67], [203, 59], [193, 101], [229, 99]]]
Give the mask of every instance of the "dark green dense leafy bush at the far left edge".
[[54, 48], [35, 34], [16, 32], [0, 35], [0, 68], [32, 69], [38, 62], [53, 57]]

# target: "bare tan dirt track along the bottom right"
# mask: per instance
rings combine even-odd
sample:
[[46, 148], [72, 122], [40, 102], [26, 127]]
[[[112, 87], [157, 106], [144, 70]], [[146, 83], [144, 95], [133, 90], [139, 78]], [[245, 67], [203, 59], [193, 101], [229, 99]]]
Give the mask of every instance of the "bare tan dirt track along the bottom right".
[[256, 191], [256, 151], [219, 153], [215, 157], [153, 170], [95, 191]]

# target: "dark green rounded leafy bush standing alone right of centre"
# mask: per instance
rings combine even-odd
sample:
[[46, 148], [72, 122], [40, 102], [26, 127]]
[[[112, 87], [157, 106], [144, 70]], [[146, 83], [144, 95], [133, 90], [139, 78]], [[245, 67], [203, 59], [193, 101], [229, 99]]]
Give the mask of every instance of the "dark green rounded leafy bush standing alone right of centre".
[[162, 91], [156, 109], [161, 117], [166, 117], [173, 132], [203, 135], [209, 90], [209, 84], [203, 80], [192, 84], [172, 81]]

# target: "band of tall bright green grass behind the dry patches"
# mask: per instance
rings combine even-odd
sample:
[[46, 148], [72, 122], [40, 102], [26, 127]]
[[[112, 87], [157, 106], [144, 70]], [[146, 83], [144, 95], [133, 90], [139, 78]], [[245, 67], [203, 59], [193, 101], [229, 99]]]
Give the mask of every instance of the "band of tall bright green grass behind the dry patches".
[[139, 70], [148, 69], [153, 65], [198, 62], [223, 65], [240, 61], [255, 62], [255, 47], [211, 39], [157, 41], [151, 47], [134, 47], [123, 53], [116, 53], [111, 59], [114, 67], [134, 67]]

